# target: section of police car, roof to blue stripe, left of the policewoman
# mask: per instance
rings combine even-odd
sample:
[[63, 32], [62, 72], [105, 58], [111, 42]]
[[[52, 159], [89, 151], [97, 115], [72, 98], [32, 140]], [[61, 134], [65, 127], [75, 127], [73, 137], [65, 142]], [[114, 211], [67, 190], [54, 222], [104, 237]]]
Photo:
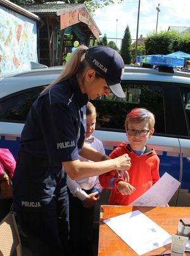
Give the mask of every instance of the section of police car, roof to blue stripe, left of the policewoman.
[[8, 148], [15, 158], [30, 106], [44, 86], [53, 82], [59, 74], [59, 68], [32, 70], [0, 80], [0, 146]]

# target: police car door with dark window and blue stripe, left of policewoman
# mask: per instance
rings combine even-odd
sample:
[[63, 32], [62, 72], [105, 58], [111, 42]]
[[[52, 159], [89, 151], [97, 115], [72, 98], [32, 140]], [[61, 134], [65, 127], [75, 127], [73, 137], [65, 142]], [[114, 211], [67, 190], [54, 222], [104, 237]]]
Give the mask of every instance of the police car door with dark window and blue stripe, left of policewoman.
[[16, 158], [20, 134], [33, 101], [42, 91], [42, 86], [18, 91], [0, 100], [0, 144], [8, 148]]

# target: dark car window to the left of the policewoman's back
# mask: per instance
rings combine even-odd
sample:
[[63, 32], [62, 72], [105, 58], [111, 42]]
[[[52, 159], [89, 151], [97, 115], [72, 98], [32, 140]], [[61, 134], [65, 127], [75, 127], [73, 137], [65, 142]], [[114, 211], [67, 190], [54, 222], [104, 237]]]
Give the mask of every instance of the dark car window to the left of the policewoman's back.
[[0, 120], [1, 122], [23, 122], [27, 118], [30, 106], [39, 96], [43, 86], [34, 87], [30, 90], [21, 91], [1, 99]]

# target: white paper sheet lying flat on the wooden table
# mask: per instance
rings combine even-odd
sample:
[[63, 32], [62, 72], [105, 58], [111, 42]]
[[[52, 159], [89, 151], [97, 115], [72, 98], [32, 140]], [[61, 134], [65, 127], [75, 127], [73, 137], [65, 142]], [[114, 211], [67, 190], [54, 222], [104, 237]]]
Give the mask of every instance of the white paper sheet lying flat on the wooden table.
[[172, 237], [169, 233], [139, 210], [106, 219], [104, 222], [137, 255], [143, 255], [172, 242]]

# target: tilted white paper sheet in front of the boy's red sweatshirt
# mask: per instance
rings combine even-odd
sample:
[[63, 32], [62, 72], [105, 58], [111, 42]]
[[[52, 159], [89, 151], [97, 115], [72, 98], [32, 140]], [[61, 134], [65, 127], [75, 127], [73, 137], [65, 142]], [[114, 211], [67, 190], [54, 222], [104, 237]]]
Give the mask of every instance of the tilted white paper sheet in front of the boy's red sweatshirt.
[[133, 206], [165, 206], [174, 195], [181, 182], [174, 179], [167, 172], [146, 191], [142, 196], [139, 196], [134, 202], [130, 203]]

